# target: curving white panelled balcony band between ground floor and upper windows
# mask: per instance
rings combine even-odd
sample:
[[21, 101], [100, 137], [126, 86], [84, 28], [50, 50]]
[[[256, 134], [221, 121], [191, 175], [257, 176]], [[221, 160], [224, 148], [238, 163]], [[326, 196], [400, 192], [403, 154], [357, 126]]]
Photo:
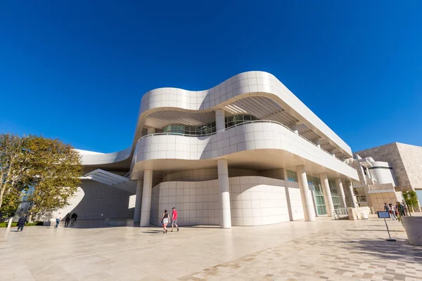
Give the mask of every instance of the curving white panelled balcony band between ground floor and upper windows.
[[139, 162], [151, 159], [213, 159], [260, 149], [284, 150], [345, 176], [357, 178], [357, 171], [351, 166], [317, 148], [285, 126], [260, 121], [204, 137], [179, 135], [143, 137], [136, 145], [132, 173], [136, 174], [138, 169], [141, 169]]

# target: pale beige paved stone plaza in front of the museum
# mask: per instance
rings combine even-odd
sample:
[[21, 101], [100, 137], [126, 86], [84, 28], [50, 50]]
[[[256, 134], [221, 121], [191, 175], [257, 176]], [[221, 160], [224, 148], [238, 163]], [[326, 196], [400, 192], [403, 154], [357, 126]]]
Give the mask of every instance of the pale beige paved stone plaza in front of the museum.
[[0, 280], [422, 280], [422, 247], [397, 221], [295, 221], [231, 230], [0, 229]]

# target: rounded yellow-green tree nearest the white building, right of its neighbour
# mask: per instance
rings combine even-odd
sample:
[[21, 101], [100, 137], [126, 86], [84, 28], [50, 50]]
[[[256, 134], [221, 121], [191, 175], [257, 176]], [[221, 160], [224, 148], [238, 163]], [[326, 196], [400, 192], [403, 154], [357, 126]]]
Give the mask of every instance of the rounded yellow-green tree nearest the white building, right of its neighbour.
[[48, 217], [51, 211], [68, 206], [81, 182], [79, 153], [57, 139], [30, 136], [26, 143], [32, 163], [30, 219]]

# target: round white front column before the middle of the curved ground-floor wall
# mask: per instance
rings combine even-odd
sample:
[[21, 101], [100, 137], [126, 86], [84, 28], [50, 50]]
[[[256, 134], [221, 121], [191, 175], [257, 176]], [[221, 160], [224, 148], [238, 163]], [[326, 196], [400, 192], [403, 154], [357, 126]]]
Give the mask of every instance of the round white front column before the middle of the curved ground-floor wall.
[[220, 227], [231, 228], [231, 209], [229, 193], [229, 168], [227, 159], [217, 160], [219, 201], [220, 201]]

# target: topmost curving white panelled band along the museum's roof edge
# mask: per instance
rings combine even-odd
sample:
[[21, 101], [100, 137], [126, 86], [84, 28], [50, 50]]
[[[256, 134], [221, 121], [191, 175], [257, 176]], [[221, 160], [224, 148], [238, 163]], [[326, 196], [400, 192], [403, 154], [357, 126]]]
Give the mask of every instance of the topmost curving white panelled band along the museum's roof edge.
[[[140, 115], [162, 107], [179, 107], [181, 110], [211, 110], [230, 100], [232, 103], [242, 98], [263, 96], [271, 98], [283, 108], [291, 108], [306, 120], [309, 129], [316, 129], [324, 138], [329, 138], [336, 146], [352, 155], [350, 147], [338, 137], [312, 110], [293, 95], [274, 75], [266, 72], [244, 72], [205, 91], [186, 91], [184, 89], [160, 88], [148, 91], [142, 97]], [[242, 105], [238, 105], [242, 107]], [[243, 108], [248, 112], [248, 108]], [[233, 112], [236, 112], [234, 110]], [[264, 118], [262, 118], [264, 119]], [[356, 175], [353, 178], [357, 178]]]

